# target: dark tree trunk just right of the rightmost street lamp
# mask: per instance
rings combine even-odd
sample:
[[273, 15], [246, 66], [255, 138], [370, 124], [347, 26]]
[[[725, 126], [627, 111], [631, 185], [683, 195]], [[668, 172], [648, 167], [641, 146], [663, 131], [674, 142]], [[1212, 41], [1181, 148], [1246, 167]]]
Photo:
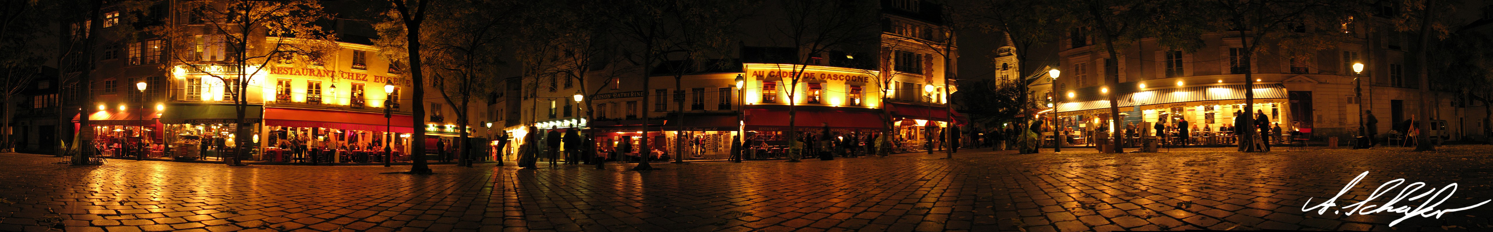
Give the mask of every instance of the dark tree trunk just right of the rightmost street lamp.
[[1420, 119], [1411, 117], [1411, 122], [1420, 120], [1417, 123], [1420, 134], [1415, 135], [1415, 152], [1435, 152], [1436, 147], [1430, 144], [1430, 68], [1426, 65], [1426, 49], [1430, 48], [1430, 22], [1436, 16], [1432, 13], [1436, 9], [1436, 0], [1426, 0], [1424, 16], [1420, 22], [1420, 48], [1415, 49], [1415, 65], [1420, 68]]

